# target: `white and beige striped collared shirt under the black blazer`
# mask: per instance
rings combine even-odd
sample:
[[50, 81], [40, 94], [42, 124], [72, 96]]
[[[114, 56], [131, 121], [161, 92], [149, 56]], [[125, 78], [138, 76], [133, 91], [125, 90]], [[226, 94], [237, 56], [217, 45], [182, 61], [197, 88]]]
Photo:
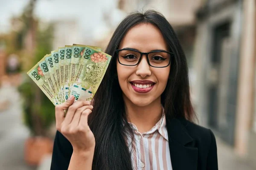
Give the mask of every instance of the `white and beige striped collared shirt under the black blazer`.
[[[166, 117], [162, 118], [148, 132], [140, 133], [137, 127], [129, 123], [134, 130], [134, 143], [129, 150], [134, 170], [172, 170]], [[131, 143], [131, 138], [128, 137]]]

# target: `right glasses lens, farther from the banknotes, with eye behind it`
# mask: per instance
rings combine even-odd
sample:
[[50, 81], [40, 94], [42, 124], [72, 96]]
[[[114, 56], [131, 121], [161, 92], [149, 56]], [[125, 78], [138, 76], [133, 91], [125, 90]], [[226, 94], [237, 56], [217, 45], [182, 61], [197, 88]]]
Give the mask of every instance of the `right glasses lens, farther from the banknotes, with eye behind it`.
[[166, 67], [171, 60], [171, 54], [166, 52], [152, 52], [148, 54], [150, 65], [153, 67]]

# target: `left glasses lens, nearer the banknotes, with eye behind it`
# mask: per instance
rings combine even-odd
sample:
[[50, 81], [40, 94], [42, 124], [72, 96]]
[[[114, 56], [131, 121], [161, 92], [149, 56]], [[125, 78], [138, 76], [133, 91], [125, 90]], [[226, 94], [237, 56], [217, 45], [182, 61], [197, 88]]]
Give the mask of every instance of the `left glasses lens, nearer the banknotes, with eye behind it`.
[[121, 50], [118, 52], [118, 59], [124, 65], [136, 65], [140, 59], [140, 53], [132, 50]]

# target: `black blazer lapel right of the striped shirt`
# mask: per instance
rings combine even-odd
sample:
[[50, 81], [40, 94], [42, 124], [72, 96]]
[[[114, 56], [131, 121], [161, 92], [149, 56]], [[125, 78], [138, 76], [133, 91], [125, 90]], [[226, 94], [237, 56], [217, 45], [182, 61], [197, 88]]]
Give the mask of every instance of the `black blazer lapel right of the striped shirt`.
[[173, 170], [197, 170], [198, 148], [179, 119], [166, 119]]

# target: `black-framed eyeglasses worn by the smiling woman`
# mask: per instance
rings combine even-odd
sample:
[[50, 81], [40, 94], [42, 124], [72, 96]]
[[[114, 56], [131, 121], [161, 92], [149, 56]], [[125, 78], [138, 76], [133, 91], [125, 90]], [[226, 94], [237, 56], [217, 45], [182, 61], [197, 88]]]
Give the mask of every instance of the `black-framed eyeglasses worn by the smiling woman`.
[[116, 50], [118, 62], [121, 65], [134, 66], [138, 65], [143, 55], [146, 55], [147, 62], [151, 67], [163, 68], [168, 67], [171, 63], [171, 57], [174, 55], [171, 52], [164, 50], [151, 51], [142, 53], [133, 49]]

